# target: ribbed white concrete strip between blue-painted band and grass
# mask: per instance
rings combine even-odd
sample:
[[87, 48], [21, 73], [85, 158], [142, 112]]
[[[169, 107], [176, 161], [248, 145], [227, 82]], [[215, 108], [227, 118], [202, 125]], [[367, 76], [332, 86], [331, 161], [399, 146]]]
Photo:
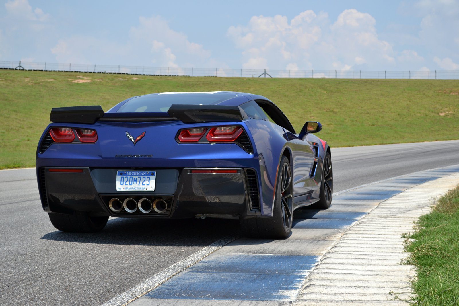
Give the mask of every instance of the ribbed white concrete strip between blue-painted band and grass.
[[381, 202], [321, 258], [293, 305], [407, 305], [415, 271], [400, 264], [408, 256], [401, 235], [458, 184], [455, 173]]

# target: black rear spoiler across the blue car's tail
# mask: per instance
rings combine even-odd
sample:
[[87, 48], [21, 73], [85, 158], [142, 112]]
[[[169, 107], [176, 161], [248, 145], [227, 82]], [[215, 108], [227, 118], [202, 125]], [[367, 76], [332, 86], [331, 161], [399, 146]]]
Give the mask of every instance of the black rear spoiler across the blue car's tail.
[[239, 106], [173, 104], [165, 113], [107, 113], [97, 106], [56, 107], [51, 110], [54, 123], [156, 122], [180, 120], [184, 123], [242, 121], [248, 118]]

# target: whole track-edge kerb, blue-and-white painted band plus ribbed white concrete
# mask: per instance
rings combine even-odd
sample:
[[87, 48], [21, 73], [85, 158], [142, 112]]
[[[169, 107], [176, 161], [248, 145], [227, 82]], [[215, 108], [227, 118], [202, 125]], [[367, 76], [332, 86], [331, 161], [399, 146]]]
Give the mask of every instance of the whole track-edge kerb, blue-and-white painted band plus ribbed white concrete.
[[407, 305], [415, 271], [401, 265], [401, 235], [457, 184], [459, 165], [346, 190], [328, 210], [295, 211], [288, 239], [236, 239], [146, 295], [106, 305]]

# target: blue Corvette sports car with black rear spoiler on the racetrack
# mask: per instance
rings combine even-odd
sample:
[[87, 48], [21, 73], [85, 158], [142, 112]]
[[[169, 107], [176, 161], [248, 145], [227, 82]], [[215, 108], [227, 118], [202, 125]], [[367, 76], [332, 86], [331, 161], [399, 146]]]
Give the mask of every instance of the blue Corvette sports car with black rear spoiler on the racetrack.
[[330, 147], [297, 134], [269, 99], [166, 92], [101, 106], [53, 108], [37, 148], [43, 209], [67, 232], [108, 217], [237, 218], [250, 237], [285, 238], [293, 211], [330, 206]]

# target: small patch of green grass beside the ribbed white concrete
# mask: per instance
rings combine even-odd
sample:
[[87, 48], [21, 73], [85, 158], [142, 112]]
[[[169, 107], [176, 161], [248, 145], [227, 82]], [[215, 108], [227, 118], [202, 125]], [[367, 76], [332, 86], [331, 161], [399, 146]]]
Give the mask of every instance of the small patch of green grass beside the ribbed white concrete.
[[420, 217], [407, 246], [409, 264], [418, 267], [414, 305], [459, 305], [459, 186]]

